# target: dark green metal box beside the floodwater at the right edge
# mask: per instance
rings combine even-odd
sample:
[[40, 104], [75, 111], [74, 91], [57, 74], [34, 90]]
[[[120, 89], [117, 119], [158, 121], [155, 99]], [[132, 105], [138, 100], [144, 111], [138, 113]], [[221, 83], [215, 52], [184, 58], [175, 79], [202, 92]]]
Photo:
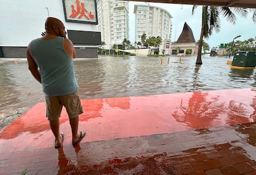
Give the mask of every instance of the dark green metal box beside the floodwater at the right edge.
[[256, 66], [256, 52], [239, 51], [234, 54], [233, 66], [237, 67], [255, 67]]

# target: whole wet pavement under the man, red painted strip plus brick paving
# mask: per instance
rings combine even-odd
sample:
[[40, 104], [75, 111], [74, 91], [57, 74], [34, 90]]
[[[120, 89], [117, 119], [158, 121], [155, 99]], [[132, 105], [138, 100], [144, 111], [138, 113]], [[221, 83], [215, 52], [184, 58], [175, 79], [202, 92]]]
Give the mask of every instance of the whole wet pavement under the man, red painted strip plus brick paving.
[[45, 104], [0, 132], [0, 174], [256, 174], [256, 91], [232, 89], [82, 100], [71, 144], [62, 112], [63, 147]]

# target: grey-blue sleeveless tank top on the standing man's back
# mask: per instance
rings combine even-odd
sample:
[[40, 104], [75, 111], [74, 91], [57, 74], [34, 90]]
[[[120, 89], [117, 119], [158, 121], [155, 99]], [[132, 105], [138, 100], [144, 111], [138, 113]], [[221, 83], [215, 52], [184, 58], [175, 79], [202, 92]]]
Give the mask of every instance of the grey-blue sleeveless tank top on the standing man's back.
[[31, 54], [40, 68], [41, 84], [46, 96], [72, 94], [78, 88], [73, 59], [63, 47], [64, 38], [34, 39]]

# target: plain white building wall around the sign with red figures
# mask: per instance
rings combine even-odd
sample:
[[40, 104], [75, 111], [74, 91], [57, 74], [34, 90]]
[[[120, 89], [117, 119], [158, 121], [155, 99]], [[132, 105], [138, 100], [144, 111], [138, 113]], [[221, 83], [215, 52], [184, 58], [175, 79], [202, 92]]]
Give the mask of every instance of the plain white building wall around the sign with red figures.
[[66, 30], [96, 31], [96, 25], [65, 22], [61, 0], [1, 0], [0, 46], [27, 46], [32, 39], [40, 38], [48, 17], [46, 7], [49, 16], [59, 18]]

